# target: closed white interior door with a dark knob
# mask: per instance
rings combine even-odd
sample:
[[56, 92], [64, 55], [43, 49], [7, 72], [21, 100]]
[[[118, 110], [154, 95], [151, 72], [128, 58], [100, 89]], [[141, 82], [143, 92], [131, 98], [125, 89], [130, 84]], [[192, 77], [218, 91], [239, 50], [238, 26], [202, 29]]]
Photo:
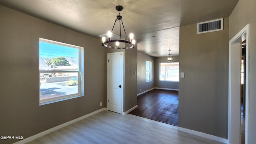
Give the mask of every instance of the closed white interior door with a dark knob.
[[108, 54], [107, 64], [108, 110], [122, 114], [124, 95], [124, 52]]

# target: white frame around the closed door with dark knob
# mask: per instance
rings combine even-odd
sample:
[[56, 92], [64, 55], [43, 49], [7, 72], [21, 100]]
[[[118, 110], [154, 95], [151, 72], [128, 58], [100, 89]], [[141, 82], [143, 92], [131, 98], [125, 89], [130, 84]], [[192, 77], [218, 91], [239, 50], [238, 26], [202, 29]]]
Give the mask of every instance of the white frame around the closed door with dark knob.
[[122, 86], [122, 97], [121, 97], [121, 114], [124, 114], [124, 52], [112, 52], [112, 53], [107, 53], [107, 110], [108, 110], [108, 100], [109, 100], [109, 90], [110, 90], [110, 87], [109, 87], [109, 62], [108, 62], [108, 59], [109, 59], [109, 56], [110, 55], [114, 55], [114, 54], [121, 54], [122, 55], [122, 82], [121, 82], [121, 86]]

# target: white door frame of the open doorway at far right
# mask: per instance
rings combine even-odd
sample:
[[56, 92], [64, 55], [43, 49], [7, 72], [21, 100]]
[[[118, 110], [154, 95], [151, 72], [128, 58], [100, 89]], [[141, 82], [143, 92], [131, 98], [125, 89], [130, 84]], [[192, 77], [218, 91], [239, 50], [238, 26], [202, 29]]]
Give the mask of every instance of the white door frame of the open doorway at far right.
[[[247, 24], [242, 30], [240, 30], [240, 32], [238, 32], [238, 34], [236, 34], [236, 36], [234, 36], [230, 41], [229, 41], [229, 72], [228, 72], [228, 144], [230, 144], [231, 142], [231, 135], [232, 135], [232, 130], [231, 127], [233, 127], [234, 125], [240, 125], [239, 124], [231, 124], [231, 119], [232, 119], [232, 115], [231, 112], [233, 110], [233, 108], [231, 107], [231, 102], [234, 99], [234, 97], [231, 96], [231, 88], [233, 86], [233, 84], [231, 83], [232, 79], [231, 79], [231, 75], [232, 75], [232, 70], [231, 70], [231, 58], [232, 58], [232, 44], [235, 43], [235, 41], [240, 38], [242, 36], [242, 34], [246, 33], [246, 78], [245, 78], [245, 143], [248, 143], [248, 111], [249, 111], [249, 28], [250, 28], [250, 24]], [[241, 56], [240, 56], [241, 57]], [[241, 112], [240, 112], [241, 113]]]

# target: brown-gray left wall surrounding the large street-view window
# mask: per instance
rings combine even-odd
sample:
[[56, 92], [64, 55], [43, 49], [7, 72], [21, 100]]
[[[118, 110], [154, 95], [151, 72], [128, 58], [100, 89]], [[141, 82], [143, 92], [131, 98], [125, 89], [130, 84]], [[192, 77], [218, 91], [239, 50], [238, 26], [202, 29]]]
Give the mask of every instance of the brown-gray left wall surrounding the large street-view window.
[[[4, 6], [0, 14], [0, 135], [28, 138], [106, 107], [106, 49], [100, 39]], [[39, 38], [84, 47], [85, 96], [39, 106]]]

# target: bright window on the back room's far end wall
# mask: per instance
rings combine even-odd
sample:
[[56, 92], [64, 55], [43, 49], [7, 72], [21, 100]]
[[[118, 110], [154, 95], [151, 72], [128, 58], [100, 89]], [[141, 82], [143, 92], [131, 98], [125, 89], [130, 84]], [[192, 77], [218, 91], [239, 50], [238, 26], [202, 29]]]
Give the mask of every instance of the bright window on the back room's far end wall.
[[179, 63], [178, 62], [161, 62], [160, 63], [160, 80], [179, 81]]

